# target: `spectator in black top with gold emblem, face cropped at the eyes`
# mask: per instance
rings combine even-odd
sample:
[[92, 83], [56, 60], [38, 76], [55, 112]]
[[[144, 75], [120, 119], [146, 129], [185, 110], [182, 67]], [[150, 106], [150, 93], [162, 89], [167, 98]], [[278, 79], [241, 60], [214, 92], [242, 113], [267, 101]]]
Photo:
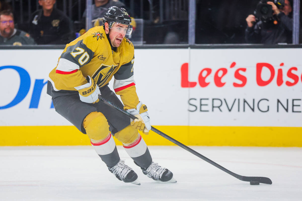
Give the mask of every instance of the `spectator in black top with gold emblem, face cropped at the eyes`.
[[31, 15], [29, 33], [37, 44], [66, 44], [72, 38], [70, 19], [60, 10], [53, 8], [56, 0], [39, 0], [42, 9]]

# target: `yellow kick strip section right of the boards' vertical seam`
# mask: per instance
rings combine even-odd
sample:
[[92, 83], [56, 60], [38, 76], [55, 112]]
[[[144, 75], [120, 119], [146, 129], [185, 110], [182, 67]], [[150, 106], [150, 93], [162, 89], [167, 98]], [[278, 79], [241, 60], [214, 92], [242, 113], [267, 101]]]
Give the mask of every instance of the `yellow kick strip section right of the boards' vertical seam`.
[[190, 126], [188, 144], [201, 146], [302, 146], [302, 127]]

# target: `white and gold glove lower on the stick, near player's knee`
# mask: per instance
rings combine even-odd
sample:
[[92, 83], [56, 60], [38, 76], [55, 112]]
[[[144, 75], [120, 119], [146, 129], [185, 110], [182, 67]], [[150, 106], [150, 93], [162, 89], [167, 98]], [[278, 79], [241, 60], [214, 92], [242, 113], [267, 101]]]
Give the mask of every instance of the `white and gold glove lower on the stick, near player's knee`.
[[144, 134], [148, 135], [149, 130], [151, 130], [150, 118], [148, 114], [148, 109], [146, 105], [143, 105], [142, 102], [139, 102], [136, 106], [137, 109], [127, 110], [131, 115], [137, 117], [134, 121], [131, 120], [131, 126], [137, 130], [143, 131]]

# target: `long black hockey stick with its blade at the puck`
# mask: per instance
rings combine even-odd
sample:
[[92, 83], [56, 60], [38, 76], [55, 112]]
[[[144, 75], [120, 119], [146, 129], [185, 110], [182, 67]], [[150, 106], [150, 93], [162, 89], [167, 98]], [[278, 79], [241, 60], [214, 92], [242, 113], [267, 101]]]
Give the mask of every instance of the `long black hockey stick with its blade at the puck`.
[[[111, 108], [115, 108], [118, 111], [124, 113], [125, 115], [127, 115], [129, 118], [131, 119], [136, 119], [135, 116], [129, 114], [127, 111], [119, 108], [118, 106], [114, 105], [113, 103], [109, 102], [108, 100], [101, 98], [99, 96], [100, 100], [105, 103], [106, 105], [109, 105]], [[157, 130], [156, 128], [154, 128], [153, 126], [151, 126], [151, 130], [157, 134], [159, 134], [160, 136], [164, 137], [165, 139], [169, 140], [170, 142], [182, 147], [183, 149], [187, 150], [188, 152], [196, 155], [197, 157], [205, 160], [206, 162], [214, 165], [215, 167], [219, 168], [220, 170], [232, 175], [233, 177], [236, 177], [237, 179], [241, 180], [241, 181], [249, 181], [251, 185], [258, 185], [259, 183], [263, 183], [263, 184], [272, 184], [271, 180], [267, 177], [246, 177], [246, 176], [242, 176], [239, 174], [236, 174], [234, 172], [231, 172], [230, 170], [222, 167], [221, 165], [215, 163], [214, 161], [208, 159], [207, 157], [201, 155], [200, 153], [194, 151], [193, 149], [189, 148], [188, 146], [185, 146], [184, 144], [178, 142], [177, 140], [173, 139], [172, 137], [169, 137], [168, 135], [166, 135], [165, 133], [161, 132], [160, 130]]]

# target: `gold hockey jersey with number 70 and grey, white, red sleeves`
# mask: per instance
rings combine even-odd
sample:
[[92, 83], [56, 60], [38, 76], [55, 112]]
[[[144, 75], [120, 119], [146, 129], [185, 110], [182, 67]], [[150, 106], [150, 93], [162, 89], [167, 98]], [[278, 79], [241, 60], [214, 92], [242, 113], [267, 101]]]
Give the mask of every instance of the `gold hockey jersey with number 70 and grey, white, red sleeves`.
[[111, 49], [102, 26], [93, 27], [66, 45], [58, 64], [50, 74], [55, 91], [74, 90], [87, 83], [89, 75], [99, 87], [114, 76], [113, 88], [120, 95], [124, 109], [136, 108], [139, 103], [133, 79], [134, 47], [126, 37]]

